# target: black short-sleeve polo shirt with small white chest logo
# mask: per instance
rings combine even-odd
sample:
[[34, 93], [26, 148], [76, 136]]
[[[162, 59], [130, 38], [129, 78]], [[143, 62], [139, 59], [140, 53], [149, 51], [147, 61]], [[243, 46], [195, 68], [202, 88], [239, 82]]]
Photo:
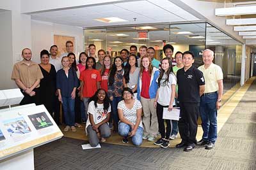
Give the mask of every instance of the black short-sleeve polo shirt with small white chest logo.
[[191, 66], [187, 71], [184, 67], [177, 71], [178, 99], [180, 102], [200, 103], [200, 85], [205, 85], [202, 71]]

